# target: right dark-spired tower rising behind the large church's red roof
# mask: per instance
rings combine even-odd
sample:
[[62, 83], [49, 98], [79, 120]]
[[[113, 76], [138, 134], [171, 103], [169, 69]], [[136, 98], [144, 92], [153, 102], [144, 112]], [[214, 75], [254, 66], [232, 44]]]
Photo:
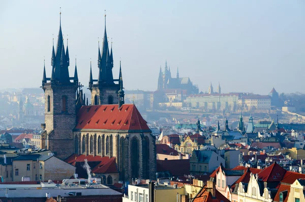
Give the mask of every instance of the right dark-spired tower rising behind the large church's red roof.
[[[91, 92], [91, 104], [101, 105], [101, 104], [115, 104], [119, 102], [118, 91], [120, 89], [120, 79], [113, 79], [112, 68], [113, 68], [113, 54], [112, 45], [109, 51], [109, 45], [106, 33], [106, 15], [105, 15], [105, 31], [102, 52], [98, 54], [98, 67], [99, 67], [99, 77], [98, 79], [93, 79], [92, 70], [90, 69], [89, 76], [89, 90]], [[90, 67], [91, 68], [91, 67]], [[121, 72], [120, 72], [121, 74]], [[96, 84], [93, 82], [97, 81]], [[118, 81], [118, 83], [114, 83]]]

